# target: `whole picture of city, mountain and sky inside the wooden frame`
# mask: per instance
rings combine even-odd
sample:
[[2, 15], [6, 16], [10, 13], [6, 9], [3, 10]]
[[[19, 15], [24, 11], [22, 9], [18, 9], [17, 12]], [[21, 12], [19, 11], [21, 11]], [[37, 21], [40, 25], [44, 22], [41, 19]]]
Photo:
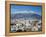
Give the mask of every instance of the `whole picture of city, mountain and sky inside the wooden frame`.
[[40, 32], [41, 21], [41, 6], [11, 5], [11, 32]]

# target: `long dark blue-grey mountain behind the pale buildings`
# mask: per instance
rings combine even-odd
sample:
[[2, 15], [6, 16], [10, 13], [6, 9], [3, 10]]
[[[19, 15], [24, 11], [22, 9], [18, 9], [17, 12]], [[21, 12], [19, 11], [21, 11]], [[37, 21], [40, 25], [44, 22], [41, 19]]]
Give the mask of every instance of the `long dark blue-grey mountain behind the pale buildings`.
[[41, 19], [42, 16], [34, 13], [17, 13], [17, 14], [11, 14], [11, 19], [19, 19], [19, 18], [24, 18], [24, 19]]

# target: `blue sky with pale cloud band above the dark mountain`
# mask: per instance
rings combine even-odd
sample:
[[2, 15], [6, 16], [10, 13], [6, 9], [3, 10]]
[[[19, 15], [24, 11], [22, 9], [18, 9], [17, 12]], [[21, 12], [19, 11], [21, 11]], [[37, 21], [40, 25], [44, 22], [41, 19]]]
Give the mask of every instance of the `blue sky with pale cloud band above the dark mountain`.
[[11, 5], [11, 14], [16, 13], [36, 13], [41, 15], [42, 12], [42, 6], [24, 6], [24, 5]]

